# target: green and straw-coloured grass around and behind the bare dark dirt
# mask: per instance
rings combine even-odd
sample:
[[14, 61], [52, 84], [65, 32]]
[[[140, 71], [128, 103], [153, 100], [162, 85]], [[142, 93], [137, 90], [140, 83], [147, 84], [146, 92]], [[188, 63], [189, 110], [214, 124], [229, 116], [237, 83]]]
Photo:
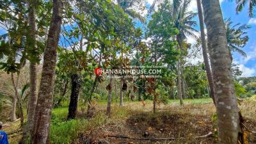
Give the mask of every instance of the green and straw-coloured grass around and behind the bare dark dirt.
[[[241, 104], [242, 115], [255, 119], [255, 113], [250, 110], [255, 108], [255, 104], [256, 102], [253, 101], [244, 101]], [[179, 100], [169, 100], [168, 104], [166, 105], [157, 105], [156, 114], [152, 113], [151, 100], [145, 100], [145, 106], [143, 106], [141, 102], [134, 101], [124, 102], [124, 107], [119, 107], [118, 102], [114, 102], [113, 104], [111, 104], [110, 118], [105, 115], [106, 102], [97, 102], [96, 108], [97, 113], [95, 114], [95, 116], [93, 116], [93, 118], [88, 119], [79, 115], [77, 119], [69, 121], [66, 120], [68, 115], [68, 102], [64, 102], [63, 106], [59, 108], [52, 109], [52, 122], [50, 132], [51, 143], [79, 143], [77, 142], [77, 139], [79, 139], [81, 136], [93, 135], [90, 133], [93, 131], [96, 131], [96, 134], [94, 135], [97, 136], [98, 133], [103, 131], [102, 127], [104, 127], [106, 131], [111, 131], [111, 129], [112, 131], [114, 131], [114, 128], [109, 125], [115, 125], [116, 127], [118, 127], [115, 132], [119, 132], [119, 129], [121, 129], [121, 134], [122, 132], [127, 131], [127, 127], [125, 127], [125, 125], [127, 120], [131, 119], [131, 116], [135, 115], [136, 118], [140, 119], [140, 115], [142, 115], [143, 113], [147, 113], [147, 116], [144, 116], [146, 124], [151, 124], [155, 120], [157, 122], [159, 120], [159, 116], [165, 118], [165, 115], [163, 115], [164, 113], [169, 113], [168, 115], [179, 115], [180, 122], [183, 122], [182, 120], [183, 118], [185, 118], [185, 115], [189, 115], [191, 120], [196, 120], [196, 117], [198, 117], [199, 115], [206, 116], [211, 120], [212, 115], [214, 115], [215, 113], [215, 108], [212, 104], [212, 99], [210, 98], [185, 99], [184, 106], [179, 105]], [[81, 113], [81, 109], [86, 109], [86, 106], [84, 106], [83, 104], [79, 104], [78, 109], [79, 113]], [[151, 122], [150, 120], [153, 121]], [[186, 120], [186, 118], [184, 120]], [[190, 124], [191, 120], [186, 120], [186, 124]], [[166, 121], [165, 119], [160, 119], [159, 122], [161, 122], [159, 124], [164, 124], [164, 122]], [[17, 129], [19, 129], [19, 122], [16, 122], [15, 124], [10, 124], [10, 127], [4, 127], [4, 131], [7, 132], [17, 131]], [[179, 129], [177, 129], [177, 131], [179, 131]], [[12, 134], [12, 136], [9, 137], [10, 144], [17, 143], [20, 138], [20, 132], [17, 132], [17, 134]]]

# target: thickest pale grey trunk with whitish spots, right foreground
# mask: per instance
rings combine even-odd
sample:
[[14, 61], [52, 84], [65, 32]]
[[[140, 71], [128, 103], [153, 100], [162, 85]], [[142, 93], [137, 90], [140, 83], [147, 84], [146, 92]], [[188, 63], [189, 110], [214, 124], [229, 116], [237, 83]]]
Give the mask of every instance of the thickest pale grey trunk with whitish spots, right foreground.
[[218, 0], [203, 0], [202, 4], [214, 80], [218, 140], [222, 144], [237, 144], [241, 134], [240, 115], [220, 3]]

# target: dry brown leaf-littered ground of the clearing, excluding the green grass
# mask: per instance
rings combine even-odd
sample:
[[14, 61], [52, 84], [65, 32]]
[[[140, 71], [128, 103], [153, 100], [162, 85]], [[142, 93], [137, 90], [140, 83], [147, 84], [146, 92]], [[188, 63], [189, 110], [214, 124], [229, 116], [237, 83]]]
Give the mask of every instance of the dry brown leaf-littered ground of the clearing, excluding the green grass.
[[[106, 113], [106, 104], [99, 103], [96, 109], [97, 113]], [[240, 109], [247, 140], [256, 143], [256, 102], [243, 101]], [[216, 143], [215, 113], [212, 103], [186, 102], [184, 106], [179, 103], [161, 104], [157, 106], [157, 113], [152, 113], [152, 102], [147, 102], [145, 106], [140, 102], [125, 102], [123, 108], [114, 103], [106, 124], [79, 133], [72, 143]], [[4, 131], [10, 133], [12, 141], [18, 141], [21, 134], [19, 121], [5, 124]]]

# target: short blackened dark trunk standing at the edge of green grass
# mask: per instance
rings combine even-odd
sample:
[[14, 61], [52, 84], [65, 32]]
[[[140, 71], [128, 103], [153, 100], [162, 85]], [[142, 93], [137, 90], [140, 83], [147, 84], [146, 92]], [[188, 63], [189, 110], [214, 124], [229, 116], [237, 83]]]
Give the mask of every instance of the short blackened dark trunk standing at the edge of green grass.
[[68, 106], [68, 120], [76, 118], [77, 114], [77, 100], [79, 95], [79, 90], [81, 88], [81, 81], [78, 74], [72, 74], [71, 76], [72, 88], [70, 95], [70, 102]]

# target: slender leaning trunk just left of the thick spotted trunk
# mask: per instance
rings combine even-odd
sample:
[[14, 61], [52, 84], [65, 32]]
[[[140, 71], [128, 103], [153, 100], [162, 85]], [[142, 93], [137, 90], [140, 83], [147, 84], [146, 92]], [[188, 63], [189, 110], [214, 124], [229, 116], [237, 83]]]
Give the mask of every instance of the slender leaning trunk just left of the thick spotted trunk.
[[205, 65], [205, 70], [206, 70], [206, 75], [207, 75], [207, 80], [209, 83], [210, 87], [210, 96], [215, 104], [215, 99], [214, 99], [214, 84], [213, 84], [213, 79], [212, 79], [212, 72], [211, 72], [211, 67], [209, 65], [209, 59], [207, 55], [207, 45], [206, 45], [206, 40], [205, 40], [205, 33], [204, 33], [204, 17], [203, 17], [203, 12], [202, 12], [202, 6], [200, 0], [196, 0], [197, 3], [197, 9], [198, 9], [198, 17], [199, 17], [199, 23], [200, 23], [200, 31], [201, 31], [201, 41], [202, 41], [202, 51], [203, 51], [203, 57], [204, 57], [204, 65]]

